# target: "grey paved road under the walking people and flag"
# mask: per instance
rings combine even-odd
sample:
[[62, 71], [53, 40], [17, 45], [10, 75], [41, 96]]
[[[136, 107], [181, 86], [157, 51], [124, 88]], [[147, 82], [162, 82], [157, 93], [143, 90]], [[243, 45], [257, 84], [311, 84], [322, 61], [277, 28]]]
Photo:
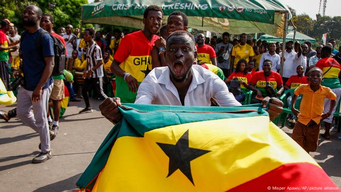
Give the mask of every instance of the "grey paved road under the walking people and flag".
[[[72, 102], [60, 119], [60, 130], [52, 141], [53, 158], [32, 164], [39, 154], [39, 137], [19, 118], [0, 120], [0, 191], [5, 192], [67, 192], [76, 189], [76, 181], [90, 163], [97, 148], [113, 127], [101, 116], [99, 101], [92, 100], [94, 113], [78, 114], [84, 102]], [[12, 107], [0, 107], [9, 110]], [[284, 127], [291, 135], [292, 129]], [[311, 156], [341, 188], [340, 133], [331, 132], [332, 139], [320, 139], [317, 153]]]

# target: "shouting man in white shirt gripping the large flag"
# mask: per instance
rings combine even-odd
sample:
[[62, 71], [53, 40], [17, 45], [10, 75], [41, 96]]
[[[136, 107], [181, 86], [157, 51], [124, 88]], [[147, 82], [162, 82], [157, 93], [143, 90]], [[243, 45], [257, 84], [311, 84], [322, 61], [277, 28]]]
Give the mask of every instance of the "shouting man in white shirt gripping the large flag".
[[[166, 43], [168, 67], [154, 68], [142, 81], [137, 91], [136, 104], [161, 104], [183, 106], [210, 106], [214, 98], [220, 106], [240, 106], [228, 92], [223, 80], [196, 64], [194, 37], [187, 31], [173, 32]], [[194, 64], [194, 65], [193, 65]], [[265, 107], [269, 100], [264, 100]], [[113, 123], [121, 120], [117, 106], [120, 98], [107, 98], [100, 105], [102, 115]], [[278, 116], [283, 102], [272, 99], [270, 118]]]

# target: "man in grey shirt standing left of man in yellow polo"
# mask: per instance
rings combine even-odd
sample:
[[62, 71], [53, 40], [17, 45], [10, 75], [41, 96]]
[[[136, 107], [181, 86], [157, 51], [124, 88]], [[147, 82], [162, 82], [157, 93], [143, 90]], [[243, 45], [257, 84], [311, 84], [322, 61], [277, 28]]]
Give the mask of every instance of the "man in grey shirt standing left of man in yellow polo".
[[230, 69], [230, 55], [233, 45], [229, 43], [230, 34], [223, 33], [223, 42], [215, 45], [215, 53], [217, 55], [217, 65], [223, 70], [224, 76], [228, 77]]

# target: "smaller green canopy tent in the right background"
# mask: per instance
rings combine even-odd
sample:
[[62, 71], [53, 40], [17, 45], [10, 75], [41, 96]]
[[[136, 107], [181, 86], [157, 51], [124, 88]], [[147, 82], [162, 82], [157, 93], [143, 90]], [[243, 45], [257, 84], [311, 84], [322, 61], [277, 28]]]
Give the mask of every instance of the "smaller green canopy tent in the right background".
[[[289, 40], [294, 40], [294, 30], [290, 27], [288, 29], [289, 33], [286, 35], [286, 39], [285, 41], [288, 42]], [[283, 41], [283, 38], [280, 38], [280, 37], [274, 37], [274, 36], [270, 36], [270, 35], [262, 35], [259, 39], [261, 40], [266, 40], [267, 42], [282, 42]], [[309, 36], [306, 36], [300, 32], [296, 32], [296, 35], [295, 35], [295, 40], [298, 40], [300, 41], [301, 43], [303, 43], [304, 41], [310, 41], [312, 43], [315, 43], [316, 42], [316, 39], [315, 38], [311, 38]]]

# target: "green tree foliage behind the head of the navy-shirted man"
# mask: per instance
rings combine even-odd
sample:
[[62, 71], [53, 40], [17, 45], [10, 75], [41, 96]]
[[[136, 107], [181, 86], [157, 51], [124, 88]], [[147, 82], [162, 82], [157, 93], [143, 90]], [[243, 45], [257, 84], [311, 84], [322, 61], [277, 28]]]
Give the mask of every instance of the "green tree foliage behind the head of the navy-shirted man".
[[81, 5], [88, 3], [87, 0], [0, 0], [0, 19], [8, 18], [19, 31], [23, 30], [22, 14], [27, 5], [35, 4], [43, 13], [54, 16], [54, 28], [65, 27], [72, 24], [80, 26]]

